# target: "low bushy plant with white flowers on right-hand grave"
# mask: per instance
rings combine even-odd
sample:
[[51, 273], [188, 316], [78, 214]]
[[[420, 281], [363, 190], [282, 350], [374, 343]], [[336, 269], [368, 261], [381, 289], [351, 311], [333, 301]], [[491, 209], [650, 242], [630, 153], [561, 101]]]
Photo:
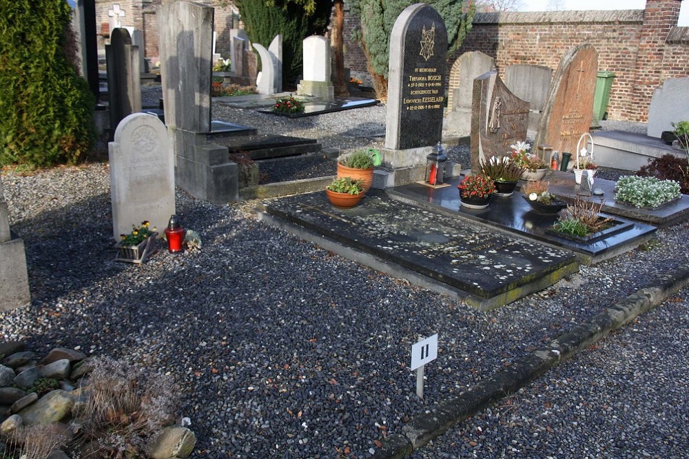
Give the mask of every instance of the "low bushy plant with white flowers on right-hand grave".
[[623, 176], [615, 186], [615, 199], [635, 207], [658, 207], [679, 196], [679, 183], [655, 177]]

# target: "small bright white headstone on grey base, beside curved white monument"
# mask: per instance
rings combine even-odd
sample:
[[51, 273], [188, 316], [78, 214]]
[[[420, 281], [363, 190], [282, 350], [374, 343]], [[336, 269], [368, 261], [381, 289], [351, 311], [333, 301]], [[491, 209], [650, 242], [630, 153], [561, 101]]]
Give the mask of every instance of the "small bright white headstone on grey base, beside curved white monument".
[[303, 46], [304, 79], [297, 86], [297, 94], [332, 100], [335, 88], [331, 80], [330, 41], [313, 35], [304, 39]]

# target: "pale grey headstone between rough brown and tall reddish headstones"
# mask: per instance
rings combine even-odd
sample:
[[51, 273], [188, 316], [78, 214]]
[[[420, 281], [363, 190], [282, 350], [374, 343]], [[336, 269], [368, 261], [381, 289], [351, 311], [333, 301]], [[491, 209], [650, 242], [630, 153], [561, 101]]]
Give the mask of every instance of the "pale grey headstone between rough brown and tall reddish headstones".
[[544, 65], [508, 65], [505, 68], [505, 85], [515, 96], [531, 104], [528, 128], [538, 129], [543, 109], [551, 88], [553, 70]]

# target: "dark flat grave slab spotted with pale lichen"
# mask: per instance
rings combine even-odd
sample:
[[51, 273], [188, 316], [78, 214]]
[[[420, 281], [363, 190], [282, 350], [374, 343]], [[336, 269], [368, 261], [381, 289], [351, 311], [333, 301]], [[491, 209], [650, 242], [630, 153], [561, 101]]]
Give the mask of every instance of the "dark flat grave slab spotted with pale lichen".
[[[380, 190], [369, 190], [347, 210], [333, 207], [325, 192], [287, 196], [267, 202], [265, 214], [270, 223], [287, 223], [285, 229], [319, 245], [335, 241], [324, 247], [375, 269], [409, 278], [382, 260], [443, 283], [480, 309], [510, 303], [578, 270], [571, 252], [403, 203]], [[341, 253], [345, 247], [373, 257], [348, 256]]]

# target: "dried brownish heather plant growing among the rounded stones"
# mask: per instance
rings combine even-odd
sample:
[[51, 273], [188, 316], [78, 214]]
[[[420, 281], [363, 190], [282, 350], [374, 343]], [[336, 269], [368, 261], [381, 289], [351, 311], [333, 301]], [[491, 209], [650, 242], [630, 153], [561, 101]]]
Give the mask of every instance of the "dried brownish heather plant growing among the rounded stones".
[[147, 455], [156, 433], [177, 414], [176, 392], [161, 375], [110, 358], [96, 359], [85, 400], [72, 413], [79, 422], [80, 442], [97, 442], [99, 451], [90, 456], [94, 458]]

